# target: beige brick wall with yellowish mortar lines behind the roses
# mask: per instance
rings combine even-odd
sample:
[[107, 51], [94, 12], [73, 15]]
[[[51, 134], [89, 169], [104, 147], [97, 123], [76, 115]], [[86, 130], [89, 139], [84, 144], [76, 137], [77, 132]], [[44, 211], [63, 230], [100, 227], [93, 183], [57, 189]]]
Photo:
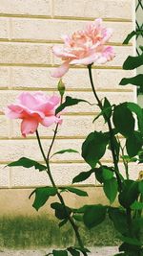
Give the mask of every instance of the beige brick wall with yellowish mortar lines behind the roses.
[[[84, 27], [88, 20], [102, 17], [104, 24], [114, 32], [111, 45], [116, 58], [104, 66], [94, 66], [93, 78], [99, 96], [108, 97], [112, 103], [135, 101], [133, 87], [119, 86], [119, 81], [131, 74], [121, 66], [134, 46], [122, 46], [122, 42], [134, 28], [133, 0], [0, 0], [0, 187], [31, 188], [50, 183], [44, 173], [22, 168], [5, 168], [11, 160], [21, 156], [42, 161], [35, 136], [23, 139], [19, 122], [7, 120], [3, 114], [6, 105], [14, 101], [23, 90], [41, 90], [52, 94], [56, 79], [51, 70], [59, 63], [51, 54], [51, 46], [61, 43], [60, 35], [71, 34]], [[94, 101], [88, 71], [85, 67], [72, 67], [65, 76], [67, 95]], [[80, 104], [69, 108], [64, 115], [53, 151], [72, 148], [80, 151], [85, 135], [92, 128], [105, 129], [99, 119], [92, 125], [92, 117], [98, 109]], [[53, 128], [53, 127], [52, 127]], [[45, 150], [48, 149], [52, 128], [40, 128]], [[112, 162], [110, 152], [104, 157]], [[122, 164], [121, 168], [122, 168]], [[137, 176], [136, 171], [133, 176]], [[64, 154], [52, 159], [52, 172], [58, 184], [71, 183], [73, 175], [88, 170], [78, 154]], [[94, 183], [93, 177], [89, 183]]]

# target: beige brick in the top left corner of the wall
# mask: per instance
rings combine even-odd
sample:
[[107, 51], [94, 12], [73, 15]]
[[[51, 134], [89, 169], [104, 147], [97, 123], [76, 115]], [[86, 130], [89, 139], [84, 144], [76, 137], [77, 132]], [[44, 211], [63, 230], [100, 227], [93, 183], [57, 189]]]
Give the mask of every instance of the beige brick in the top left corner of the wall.
[[0, 13], [51, 15], [51, 0], [0, 0]]

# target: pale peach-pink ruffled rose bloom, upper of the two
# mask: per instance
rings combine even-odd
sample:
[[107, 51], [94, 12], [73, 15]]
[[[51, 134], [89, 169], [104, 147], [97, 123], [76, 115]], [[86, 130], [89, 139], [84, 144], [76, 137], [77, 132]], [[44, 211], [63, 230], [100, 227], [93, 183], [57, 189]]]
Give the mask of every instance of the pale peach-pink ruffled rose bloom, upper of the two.
[[102, 19], [90, 22], [86, 29], [77, 31], [72, 36], [64, 35], [63, 46], [53, 46], [53, 54], [64, 60], [63, 64], [51, 74], [54, 78], [61, 78], [68, 72], [70, 64], [89, 65], [92, 62], [104, 64], [114, 58], [111, 46], [106, 46], [112, 35], [112, 29], [104, 28]]

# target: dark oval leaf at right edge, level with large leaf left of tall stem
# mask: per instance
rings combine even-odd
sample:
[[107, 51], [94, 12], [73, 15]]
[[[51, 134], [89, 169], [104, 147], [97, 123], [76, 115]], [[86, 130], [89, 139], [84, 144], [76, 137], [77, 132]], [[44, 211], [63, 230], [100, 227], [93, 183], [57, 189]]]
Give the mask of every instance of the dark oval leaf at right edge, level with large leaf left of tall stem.
[[138, 151], [142, 149], [143, 139], [138, 131], [133, 131], [133, 133], [126, 140], [126, 150], [130, 157], [138, 154]]

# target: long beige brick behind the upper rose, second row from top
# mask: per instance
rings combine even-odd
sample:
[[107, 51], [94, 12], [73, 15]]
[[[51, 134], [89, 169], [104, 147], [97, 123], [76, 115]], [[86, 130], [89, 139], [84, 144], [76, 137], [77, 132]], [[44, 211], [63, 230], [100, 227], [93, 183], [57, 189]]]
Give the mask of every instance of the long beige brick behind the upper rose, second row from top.
[[[31, 40], [61, 40], [61, 35], [71, 35], [74, 31], [83, 30], [88, 21], [47, 20], [47, 19], [12, 19], [12, 38]], [[123, 42], [133, 30], [132, 23], [104, 22], [113, 29], [112, 42]]]

